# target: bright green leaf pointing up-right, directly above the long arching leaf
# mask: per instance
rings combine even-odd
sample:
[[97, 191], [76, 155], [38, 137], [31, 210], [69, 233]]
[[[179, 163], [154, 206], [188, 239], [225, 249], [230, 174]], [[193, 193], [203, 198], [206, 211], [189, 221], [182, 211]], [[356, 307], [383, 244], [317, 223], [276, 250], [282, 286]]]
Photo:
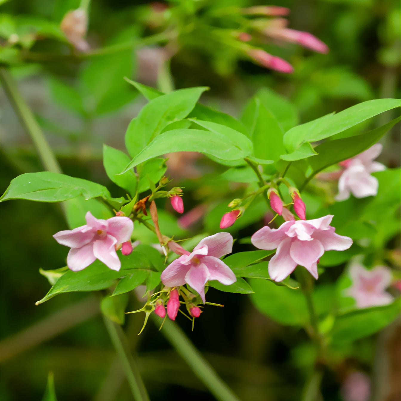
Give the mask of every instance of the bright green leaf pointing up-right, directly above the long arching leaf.
[[185, 118], [207, 87], [178, 89], [151, 100], [128, 126], [125, 144], [134, 157], [156, 138], [167, 124]]

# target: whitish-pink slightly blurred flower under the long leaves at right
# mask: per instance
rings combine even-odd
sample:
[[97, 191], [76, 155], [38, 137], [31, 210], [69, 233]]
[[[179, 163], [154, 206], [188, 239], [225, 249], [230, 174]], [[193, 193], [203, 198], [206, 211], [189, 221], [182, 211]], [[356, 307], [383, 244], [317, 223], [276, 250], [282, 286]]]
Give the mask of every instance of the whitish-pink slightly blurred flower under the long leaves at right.
[[371, 176], [371, 173], [383, 171], [386, 168], [383, 164], [373, 161], [379, 156], [382, 148], [381, 144], [375, 144], [365, 152], [340, 163], [345, 170], [338, 180], [336, 201], [348, 199], [350, 192], [355, 198], [377, 195], [379, 182], [376, 177]]

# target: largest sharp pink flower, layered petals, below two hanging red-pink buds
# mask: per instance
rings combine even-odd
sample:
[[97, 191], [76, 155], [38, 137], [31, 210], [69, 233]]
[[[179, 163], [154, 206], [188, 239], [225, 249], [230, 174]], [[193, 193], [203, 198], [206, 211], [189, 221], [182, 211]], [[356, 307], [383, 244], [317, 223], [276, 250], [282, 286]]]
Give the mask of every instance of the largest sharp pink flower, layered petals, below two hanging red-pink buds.
[[330, 226], [333, 216], [314, 220], [291, 220], [278, 229], [263, 227], [251, 237], [259, 249], [275, 249], [269, 261], [269, 275], [275, 281], [284, 280], [296, 265], [304, 266], [313, 277], [318, 278], [317, 262], [324, 251], [344, 251], [352, 245], [352, 239], [334, 233]]

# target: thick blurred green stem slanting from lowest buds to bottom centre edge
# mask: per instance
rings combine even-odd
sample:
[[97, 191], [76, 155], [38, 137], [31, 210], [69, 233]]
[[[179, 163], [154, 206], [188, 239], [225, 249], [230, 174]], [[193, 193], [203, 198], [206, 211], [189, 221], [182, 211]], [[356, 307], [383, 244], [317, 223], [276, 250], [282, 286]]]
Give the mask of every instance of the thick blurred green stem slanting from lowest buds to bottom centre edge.
[[[155, 324], [159, 324], [156, 316], [152, 316]], [[178, 354], [192, 369], [193, 373], [200, 379], [209, 391], [219, 401], [239, 401], [239, 398], [227, 387], [227, 385], [217, 375], [216, 371], [203, 358], [201, 353], [195, 348], [180, 327], [166, 319], [161, 333], [176, 349]]]

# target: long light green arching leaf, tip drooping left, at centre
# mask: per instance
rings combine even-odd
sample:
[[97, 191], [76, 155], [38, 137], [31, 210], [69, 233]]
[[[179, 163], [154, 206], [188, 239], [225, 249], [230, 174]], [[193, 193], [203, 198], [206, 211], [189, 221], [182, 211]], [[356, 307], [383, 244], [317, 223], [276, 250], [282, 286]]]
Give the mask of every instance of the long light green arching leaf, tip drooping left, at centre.
[[172, 130], [157, 136], [126, 166], [130, 168], [151, 158], [170, 152], [200, 152], [223, 160], [237, 160], [246, 156], [221, 134], [204, 130]]

